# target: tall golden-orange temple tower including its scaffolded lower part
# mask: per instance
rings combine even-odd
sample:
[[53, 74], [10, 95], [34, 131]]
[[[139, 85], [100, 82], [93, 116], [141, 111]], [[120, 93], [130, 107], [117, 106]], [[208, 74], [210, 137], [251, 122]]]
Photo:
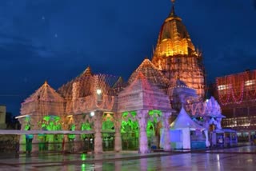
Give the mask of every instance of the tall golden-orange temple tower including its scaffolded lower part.
[[162, 24], [152, 60], [154, 66], [174, 84], [177, 79], [196, 89], [199, 97], [205, 97], [206, 79], [202, 53], [194, 48], [190, 34], [174, 12]]

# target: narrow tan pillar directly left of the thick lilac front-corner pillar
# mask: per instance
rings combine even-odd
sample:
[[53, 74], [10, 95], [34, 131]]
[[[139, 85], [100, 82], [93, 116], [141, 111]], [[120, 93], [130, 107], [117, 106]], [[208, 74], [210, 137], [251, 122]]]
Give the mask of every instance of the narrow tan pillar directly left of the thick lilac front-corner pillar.
[[114, 151], [122, 151], [122, 138], [121, 138], [121, 124], [122, 124], [122, 113], [114, 114]]

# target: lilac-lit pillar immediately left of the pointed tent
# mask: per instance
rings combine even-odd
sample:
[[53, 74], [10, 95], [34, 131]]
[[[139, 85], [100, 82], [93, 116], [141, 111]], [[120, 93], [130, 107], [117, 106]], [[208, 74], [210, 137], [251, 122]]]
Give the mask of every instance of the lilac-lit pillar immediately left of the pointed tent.
[[170, 125], [169, 125], [169, 117], [171, 113], [163, 113], [162, 116], [162, 127], [164, 132], [164, 145], [163, 149], [165, 151], [170, 150]]

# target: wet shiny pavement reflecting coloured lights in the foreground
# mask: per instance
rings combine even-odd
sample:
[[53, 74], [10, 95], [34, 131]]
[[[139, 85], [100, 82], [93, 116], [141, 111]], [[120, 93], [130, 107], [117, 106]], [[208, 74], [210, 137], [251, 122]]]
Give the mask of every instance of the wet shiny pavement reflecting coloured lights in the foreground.
[[4, 154], [0, 170], [255, 170], [256, 146], [139, 154]]

